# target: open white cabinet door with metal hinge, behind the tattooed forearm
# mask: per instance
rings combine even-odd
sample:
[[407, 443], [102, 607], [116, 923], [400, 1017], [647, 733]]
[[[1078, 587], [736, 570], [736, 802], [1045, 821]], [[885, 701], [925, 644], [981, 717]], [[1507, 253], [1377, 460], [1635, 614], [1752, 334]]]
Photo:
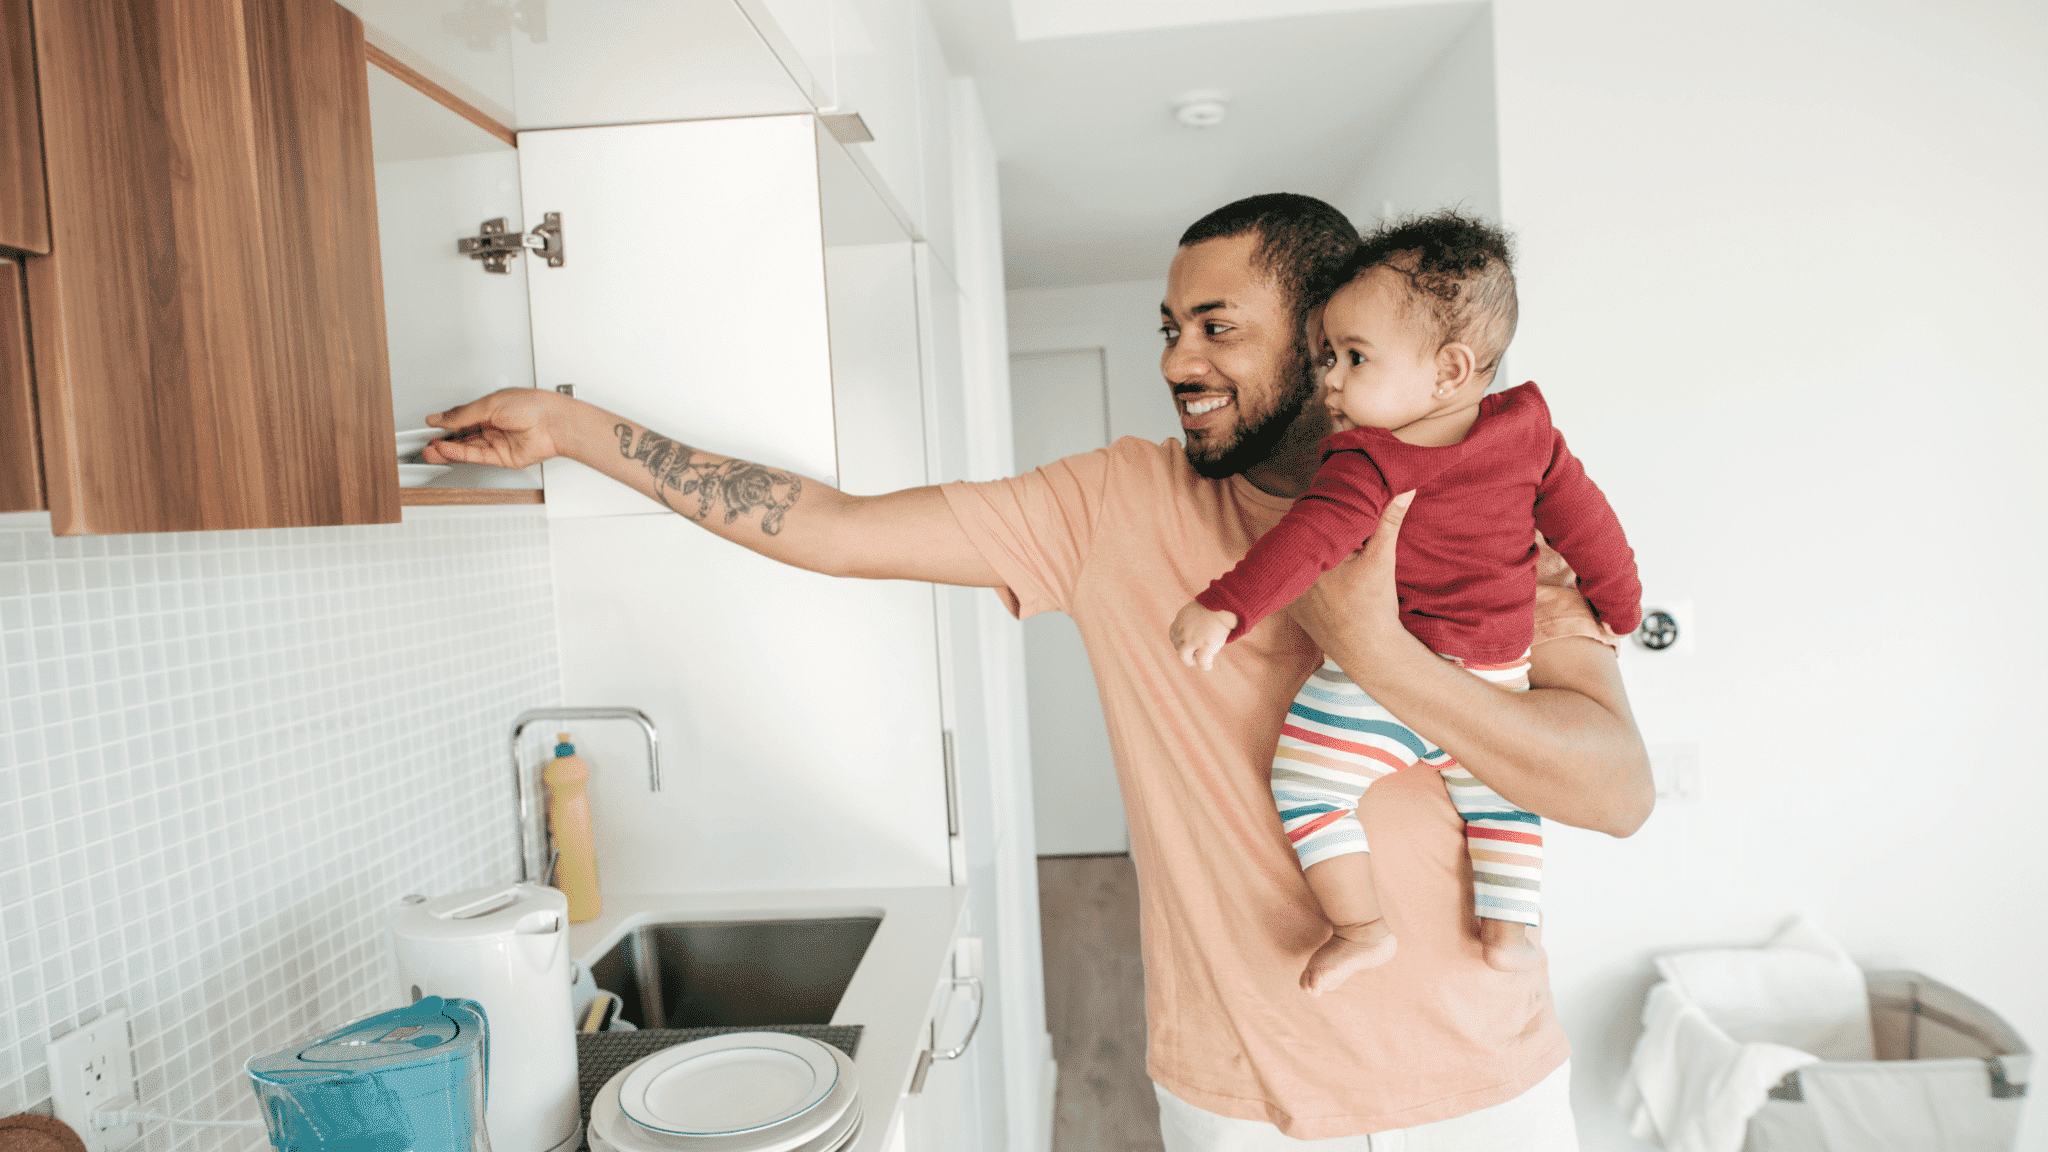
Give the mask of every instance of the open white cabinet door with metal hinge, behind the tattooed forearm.
[[[528, 217], [567, 262], [528, 266], [535, 373], [725, 455], [836, 482], [813, 117], [520, 133]], [[549, 461], [551, 517], [659, 512]]]

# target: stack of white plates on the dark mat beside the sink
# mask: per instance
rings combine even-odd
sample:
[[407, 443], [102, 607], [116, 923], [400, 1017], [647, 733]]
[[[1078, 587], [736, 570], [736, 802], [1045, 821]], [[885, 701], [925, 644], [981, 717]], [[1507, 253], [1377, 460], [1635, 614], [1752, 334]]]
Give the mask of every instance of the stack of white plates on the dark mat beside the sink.
[[594, 1152], [838, 1152], [858, 1138], [854, 1062], [778, 1031], [664, 1047], [590, 1101]]

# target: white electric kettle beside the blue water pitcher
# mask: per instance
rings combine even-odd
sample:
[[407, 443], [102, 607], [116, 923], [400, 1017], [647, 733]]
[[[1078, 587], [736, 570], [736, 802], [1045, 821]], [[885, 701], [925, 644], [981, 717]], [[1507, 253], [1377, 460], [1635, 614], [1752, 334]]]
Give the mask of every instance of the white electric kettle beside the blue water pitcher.
[[539, 883], [498, 883], [391, 916], [397, 986], [475, 1000], [489, 1021], [485, 1127], [492, 1152], [567, 1152], [584, 1136], [569, 1006], [569, 898]]

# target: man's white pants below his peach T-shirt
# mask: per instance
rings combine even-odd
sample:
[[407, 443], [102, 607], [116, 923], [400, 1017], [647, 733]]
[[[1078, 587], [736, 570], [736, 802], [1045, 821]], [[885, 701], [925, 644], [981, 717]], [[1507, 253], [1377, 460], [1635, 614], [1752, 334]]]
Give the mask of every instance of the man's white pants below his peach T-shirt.
[[1202, 1111], [1153, 1084], [1159, 1097], [1159, 1136], [1165, 1152], [1579, 1152], [1571, 1123], [1571, 1062], [1520, 1097], [1436, 1123], [1294, 1140], [1257, 1119]]

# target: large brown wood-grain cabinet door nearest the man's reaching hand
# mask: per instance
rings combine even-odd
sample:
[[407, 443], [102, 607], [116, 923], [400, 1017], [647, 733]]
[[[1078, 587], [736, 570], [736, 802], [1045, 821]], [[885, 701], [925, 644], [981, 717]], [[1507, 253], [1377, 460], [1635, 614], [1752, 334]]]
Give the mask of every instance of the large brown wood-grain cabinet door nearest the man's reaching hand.
[[360, 20], [334, 0], [33, 14], [53, 531], [397, 521]]

